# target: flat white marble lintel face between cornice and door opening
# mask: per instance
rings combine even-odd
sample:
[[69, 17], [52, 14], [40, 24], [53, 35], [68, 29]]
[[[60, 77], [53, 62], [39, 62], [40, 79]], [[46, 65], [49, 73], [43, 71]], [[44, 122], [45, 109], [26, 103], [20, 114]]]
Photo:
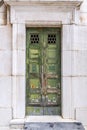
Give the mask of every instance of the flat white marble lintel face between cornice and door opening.
[[73, 19], [71, 10], [72, 8], [65, 8], [64, 5], [63, 8], [58, 8], [57, 6], [55, 6], [55, 4], [53, 4], [53, 6], [49, 6], [47, 4], [46, 6], [44, 4], [39, 4], [38, 6], [34, 3], [33, 6], [29, 5], [29, 8], [28, 6], [20, 6], [20, 8], [18, 6], [15, 6], [14, 8], [11, 8], [11, 23], [23, 24], [26, 22], [33, 25], [37, 21], [44, 21], [47, 22], [49, 25], [50, 22], [54, 21], [67, 24], [70, 23]]

